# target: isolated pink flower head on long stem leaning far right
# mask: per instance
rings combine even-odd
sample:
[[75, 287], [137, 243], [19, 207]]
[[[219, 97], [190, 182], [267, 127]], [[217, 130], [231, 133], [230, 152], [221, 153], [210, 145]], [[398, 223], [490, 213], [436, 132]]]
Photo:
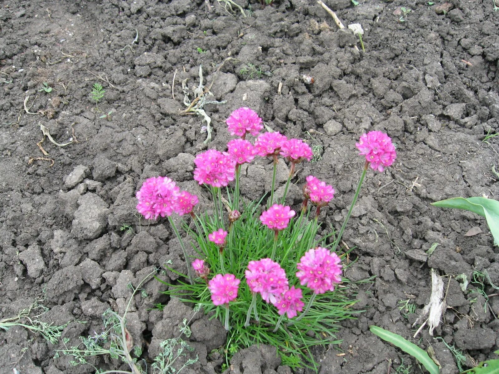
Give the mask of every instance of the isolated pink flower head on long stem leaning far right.
[[381, 131], [370, 131], [362, 134], [359, 142], [355, 143], [360, 151], [359, 155], [366, 156], [366, 161], [370, 163], [371, 169], [383, 172], [385, 167], [393, 164], [397, 153], [392, 139]]

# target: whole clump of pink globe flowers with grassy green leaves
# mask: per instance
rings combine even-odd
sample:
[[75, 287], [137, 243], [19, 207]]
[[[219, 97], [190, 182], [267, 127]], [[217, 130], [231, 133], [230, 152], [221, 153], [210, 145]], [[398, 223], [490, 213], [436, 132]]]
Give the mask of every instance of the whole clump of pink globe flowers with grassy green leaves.
[[[197, 196], [181, 191], [167, 177], [146, 180], [137, 192], [137, 209], [147, 219], [168, 217], [189, 264], [189, 282], [178, 269], [169, 268], [180, 278], [166, 293], [213, 312], [224, 322], [231, 345], [273, 344], [287, 363], [299, 360], [317, 369], [308, 347], [334, 340], [337, 321], [353, 313], [347, 287], [337, 287], [346, 266], [342, 259], [347, 252], [339, 247], [345, 225], [369, 166], [382, 172], [393, 164], [395, 148], [380, 132], [360, 137], [356, 146], [366, 159], [353, 201], [339, 232], [320, 238], [319, 213], [327, 210], [335, 190], [330, 180], [294, 175], [297, 164], [312, 159], [310, 147], [278, 132], [258, 135], [262, 120], [250, 108], [235, 110], [227, 125], [238, 138], [229, 141], [227, 149], [207, 150], [194, 160]], [[247, 134], [257, 136], [254, 144], [245, 139]], [[259, 165], [273, 168], [270, 193], [258, 201], [241, 200], [241, 165], [256, 156], [263, 158], [257, 158]], [[283, 186], [276, 186], [279, 163], [289, 164]], [[286, 200], [291, 182], [303, 188], [303, 203], [296, 211], [296, 201]], [[280, 192], [278, 199], [274, 190]], [[198, 196], [202, 201], [211, 198], [212, 205], [196, 209]], [[315, 209], [309, 208], [312, 204]], [[171, 217], [174, 213], [191, 238], [189, 253]]]

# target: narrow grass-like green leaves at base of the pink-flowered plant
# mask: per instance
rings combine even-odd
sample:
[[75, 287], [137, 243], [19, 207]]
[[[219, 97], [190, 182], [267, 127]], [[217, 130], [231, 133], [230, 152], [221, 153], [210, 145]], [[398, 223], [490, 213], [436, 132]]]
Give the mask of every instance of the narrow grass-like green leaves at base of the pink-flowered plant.
[[[230, 200], [230, 194], [228, 197]], [[338, 322], [352, 319], [357, 313], [351, 308], [355, 301], [351, 299], [348, 280], [342, 279], [343, 284], [332, 292], [317, 295], [312, 307], [301, 320], [288, 320], [284, 317], [275, 333], [273, 330], [278, 319], [277, 310], [272, 305], [258, 299], [256, 311], [259, 322], [251, 320], [250, 326], [245, 327], [247, 312], [252, 300], [250, 288], [244, 281], [246, 265], [249, 261], [271, 256], [274, 233], [262, 225], [259, 220], [261, 200], [248, 204], [242, 203], [243, 213], [239, 220], [233, 223], [227, 236], [227, 246], [223, 256], [219, 255], [219, 248], [206, 239], [209, 233], [220, 227], [213, 217], [209, 217], [207, 214], [196, 217], [194, 222], [200, 234], [184, 223], [184, 230], [192, 238], [192, 247], [197, 252], [198, 257], [205, 260], [210, 269], [224, 268], [225, 273], [234, 274], [237, 278], [243, 279], [239, 285], [237, 300], [230, 304], [232, 328], [228, 332], [225, 348], [226, 364], [229, 365], [234, 347], [239, 349], [250, 347], [253, 344], [270, 344], [277, 348], [278, 354], [286, 365], [293, 368], [306, 366], [317, 370], [319, 364], [314, 361], [312, 347], [340, 343], [336, 338], [339, 329]], [[232, 201], [229, 201], [229, 204], [232, 204]], [[299, 287], [299, 280], [295, 277], [295, 273], [296, 264], [300, 257], [310, 248], [331, 245], [327, 244], [327, 240], [332, 234], [320, 240], [316, 239], [319, 225], [315, 218], [309, 219], [309, 214], [310, 211], [306, 214], [298, 214], [289, 223], [288, 228], [281, 231], [278, 236], [274, 260], [286, 272], [290, 287]], [[344, 257], [346, 253], [338, 253], [338, 255]], [[344, 264], [344, 267], [347, 266]], [[168, 284], [169, 288], [165, 292], [166, 294], [177, 297], [185, 303], [199, 303], [203, 306], [205, 313], [212, 313], [212, 318], [218, 318], [223, 322], [226, 308], [214, 306], [206, 283], [199, 281], [199, 283], [190, 284], [188, 281], [182, 280], [185, 279], [186, 275], [172, 268], [169, 270], [184, 278], [179, 278], [176, 284]], [[303, 291], [303, 302], [307, 304], [312, 293], [306, 289]], [[291, 321], [294, 323], [286, 325]]]

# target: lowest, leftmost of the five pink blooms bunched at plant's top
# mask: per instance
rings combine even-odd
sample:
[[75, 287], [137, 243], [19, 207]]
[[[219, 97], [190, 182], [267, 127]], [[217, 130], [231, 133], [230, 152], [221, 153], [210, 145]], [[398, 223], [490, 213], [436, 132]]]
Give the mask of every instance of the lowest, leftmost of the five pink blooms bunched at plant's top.
[[236, 161], [222, 152], [211, 149], [200, 153], [194, 159], [194, 164], [196, 164], [194, 179], [200, 185], [206, 183], [213, 187], [222, 187], [234, 181]]

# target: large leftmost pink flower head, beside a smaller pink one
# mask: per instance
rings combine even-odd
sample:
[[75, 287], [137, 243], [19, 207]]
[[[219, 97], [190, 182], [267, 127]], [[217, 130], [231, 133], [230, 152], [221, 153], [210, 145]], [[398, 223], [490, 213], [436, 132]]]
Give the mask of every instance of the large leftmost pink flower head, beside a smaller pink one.
[[168, 177], [148, 178], [137, 191], [137, 210], [146, 219], [170, 216], [175, 210], [180, 188]]

